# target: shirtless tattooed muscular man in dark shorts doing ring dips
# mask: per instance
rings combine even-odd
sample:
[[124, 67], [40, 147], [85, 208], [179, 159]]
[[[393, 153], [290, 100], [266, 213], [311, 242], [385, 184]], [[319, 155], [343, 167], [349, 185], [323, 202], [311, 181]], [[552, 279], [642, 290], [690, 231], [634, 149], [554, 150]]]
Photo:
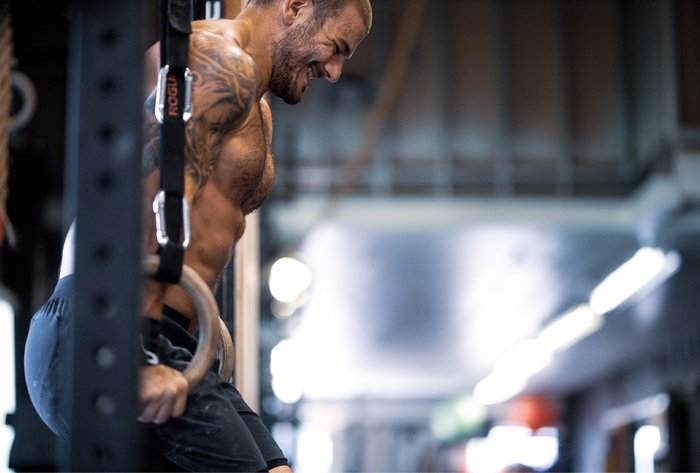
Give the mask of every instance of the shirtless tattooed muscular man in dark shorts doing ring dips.
[[[190, 40], [193, 116], [186, 129], [186, 195], [192, 241], [185, 263], [215, 288], [245, 216], [258, 208], [273, 180], [272, 118], [263, 98], [301, 100], [312, 79], [335, 82], [368, 34], [369, 0], [249, 0], [235, 20], [195, 22]], [[155, 84], [157, 45], [147, 53], [147, 85]], [[150, 87], [149, 87], [150, 88]], [[158, 127], [153, 97], [146, 101], [144, 209], [158, 190]], [[78, 222], [79, 224], [79, 222]], [[145, 252], [155, 252], [150, 210], [144, 210]], [[62, 410], [61, 366], [70, 360], [72, 245], [64, 246], [60, 279], [32, 319], [25, 371], [32, 401], [58, 435], [68, 433]], [[211, 371], [189, 392], [183, 371], [196, 340], [197, 314], [177, 286], [146, 280], [143, 311], [153, 326], [160, 363], [140, 370], [139, 420], [173, 468], [287, 470], [286, 459], [238, 391]], [[165, 314], [165, 316], [163, 316]], [[189, 330], [189, 331], [188, 331]]]

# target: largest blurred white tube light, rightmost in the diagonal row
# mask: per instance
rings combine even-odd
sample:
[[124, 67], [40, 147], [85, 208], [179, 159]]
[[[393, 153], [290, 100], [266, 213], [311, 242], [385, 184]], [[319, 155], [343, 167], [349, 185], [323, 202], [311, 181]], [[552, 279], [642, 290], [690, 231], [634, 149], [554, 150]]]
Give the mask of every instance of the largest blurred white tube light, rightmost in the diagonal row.
[[680, 267], [680, 255], [644, 247], [610, 273], [591, 293], [590, 306], [606, 314], [642, 290], [651, 290]]

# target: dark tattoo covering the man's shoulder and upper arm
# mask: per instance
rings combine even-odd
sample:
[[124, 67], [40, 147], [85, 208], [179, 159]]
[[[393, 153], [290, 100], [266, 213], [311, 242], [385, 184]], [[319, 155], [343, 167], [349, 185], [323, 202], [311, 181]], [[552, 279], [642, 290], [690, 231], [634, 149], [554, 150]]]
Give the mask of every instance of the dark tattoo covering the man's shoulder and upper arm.
[[187, 174], [200, 189], [226, 133], [242, 123], [255, 100], [252, 59], [219, 35], [195, 33], [190, 43], [193, 115], [187, 124]]

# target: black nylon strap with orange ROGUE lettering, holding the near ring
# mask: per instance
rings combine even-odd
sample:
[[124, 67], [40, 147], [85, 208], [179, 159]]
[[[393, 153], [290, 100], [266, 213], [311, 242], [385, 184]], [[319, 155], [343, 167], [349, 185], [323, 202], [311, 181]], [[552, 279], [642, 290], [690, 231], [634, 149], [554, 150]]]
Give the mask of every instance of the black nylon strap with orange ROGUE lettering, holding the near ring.
[[183, 228], [185, 193], [185, 72], [192, 32], [192, 0], [161, 0], [161, 67], [168, 67], [164, 77], [163, 113], [160, 125], [160, 184], [165, 192], [166, 243], [159, 249], [160, 267], [154, 276], [167, 283], [177, 283], [182, 274], [184, 248], [180, 244]]

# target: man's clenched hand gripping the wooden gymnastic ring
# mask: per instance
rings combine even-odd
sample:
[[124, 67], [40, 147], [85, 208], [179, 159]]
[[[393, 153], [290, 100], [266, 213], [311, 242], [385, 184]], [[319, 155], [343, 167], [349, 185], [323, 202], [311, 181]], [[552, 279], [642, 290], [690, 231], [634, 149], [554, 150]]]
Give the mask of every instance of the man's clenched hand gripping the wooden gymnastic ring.
[[177, 370], [165, 365], [140, 369], [139, 402], [141, 422], [163, 424], [179, 417], [187, 405], [187, 379]]

